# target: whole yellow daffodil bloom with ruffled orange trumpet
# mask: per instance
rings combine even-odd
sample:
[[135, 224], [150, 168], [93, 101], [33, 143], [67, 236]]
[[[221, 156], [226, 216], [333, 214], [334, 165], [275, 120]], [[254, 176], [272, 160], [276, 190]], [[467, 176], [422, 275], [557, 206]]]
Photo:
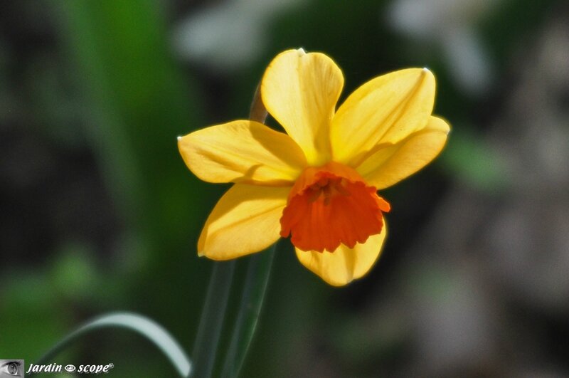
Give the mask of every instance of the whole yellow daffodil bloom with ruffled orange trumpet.
[[286, 134], [236, 120], [179, 138], [197, 177], [235, 183], [203, 227], [200, 256], [238, 258], [290, 236], [299, 261], [331, 285], [371, 269], [390, 210], [377, 191], [434, 159], [450, 127], [431, 115], [435, 78], [425, 68], [374, 78], [336, 110], [343, 85], [328, 56], [285, 51], [260, 95]]

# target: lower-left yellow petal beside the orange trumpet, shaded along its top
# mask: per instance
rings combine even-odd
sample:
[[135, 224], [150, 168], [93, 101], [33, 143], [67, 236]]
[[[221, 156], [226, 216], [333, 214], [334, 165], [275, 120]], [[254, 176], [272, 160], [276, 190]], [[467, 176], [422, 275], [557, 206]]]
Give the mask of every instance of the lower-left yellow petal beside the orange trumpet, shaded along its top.
[[280, 217], [289, 191], [288, 187], [233, 185], [203, 226], [198, 255], [229, 260], [275, 243], [280, 238]]

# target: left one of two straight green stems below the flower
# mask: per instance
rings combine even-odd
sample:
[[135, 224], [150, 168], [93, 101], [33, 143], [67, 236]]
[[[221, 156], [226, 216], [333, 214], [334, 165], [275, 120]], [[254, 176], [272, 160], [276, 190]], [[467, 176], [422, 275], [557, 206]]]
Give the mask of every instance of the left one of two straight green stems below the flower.
[[211, 377], [234, 271], [235, 260], [213, 265], [206, 304], [203, 305], [198, 335], [193, 345], [195, 378]]

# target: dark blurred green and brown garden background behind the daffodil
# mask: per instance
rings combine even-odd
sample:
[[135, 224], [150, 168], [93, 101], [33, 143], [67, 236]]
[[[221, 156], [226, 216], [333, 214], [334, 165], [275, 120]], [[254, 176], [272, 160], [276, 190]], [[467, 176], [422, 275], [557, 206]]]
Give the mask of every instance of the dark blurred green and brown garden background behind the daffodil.
[[[298, 47], [334, 58], [342, 99], [429, 67], [452, 133], [382, 192], [390, 232], [365, 278], [332, 288], [277, 254], [243, 377], [569, 377], [563, 0], [2, 1], [0, 358], [34, 362], [114, 310], [191, 351], [213, 266], [196, 240], [227, 186], [193, 177], [176, 137], [247, 117], [267, 63]], [[119, 330], [55, 362], [174, 374]]]

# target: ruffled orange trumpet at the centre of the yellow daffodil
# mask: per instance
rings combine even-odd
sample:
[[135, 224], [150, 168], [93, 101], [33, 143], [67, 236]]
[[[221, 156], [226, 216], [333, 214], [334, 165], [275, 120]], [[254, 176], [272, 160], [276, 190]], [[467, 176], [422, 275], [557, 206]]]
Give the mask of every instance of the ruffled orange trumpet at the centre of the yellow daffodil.
[[308, 167], [290, 191], [280, 219], [280, 235], [302, 251], [333, 252], [381, 233], [387, 201], [350, 167], [329, 162]]

